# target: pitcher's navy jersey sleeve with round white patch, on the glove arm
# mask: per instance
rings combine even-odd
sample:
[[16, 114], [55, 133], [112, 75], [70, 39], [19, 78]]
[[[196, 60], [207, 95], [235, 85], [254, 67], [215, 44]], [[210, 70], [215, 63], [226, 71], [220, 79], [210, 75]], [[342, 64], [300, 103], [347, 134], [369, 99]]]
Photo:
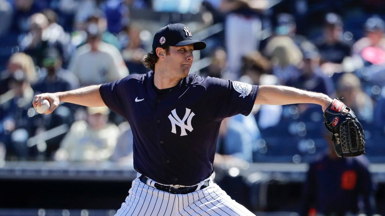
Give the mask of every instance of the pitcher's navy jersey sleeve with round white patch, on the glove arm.
[[244, 82], [207, 77], [208, 107], [214, 120], [221, 121], [233, 115], [249, 115], [253, 109], [259, 86]]

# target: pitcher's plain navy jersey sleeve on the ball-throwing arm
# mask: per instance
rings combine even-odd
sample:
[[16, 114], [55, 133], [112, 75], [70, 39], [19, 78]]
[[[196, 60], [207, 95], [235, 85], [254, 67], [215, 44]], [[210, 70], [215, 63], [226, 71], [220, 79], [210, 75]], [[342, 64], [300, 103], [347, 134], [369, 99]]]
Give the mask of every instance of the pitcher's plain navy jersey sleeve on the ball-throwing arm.
[[126, 79], [118, 79], [102, 84], [99, 88], [100, 96], [105, 105], [123, 117], [126, 117], [124, 94], [128, 91], [128, 86], [125, 83]]

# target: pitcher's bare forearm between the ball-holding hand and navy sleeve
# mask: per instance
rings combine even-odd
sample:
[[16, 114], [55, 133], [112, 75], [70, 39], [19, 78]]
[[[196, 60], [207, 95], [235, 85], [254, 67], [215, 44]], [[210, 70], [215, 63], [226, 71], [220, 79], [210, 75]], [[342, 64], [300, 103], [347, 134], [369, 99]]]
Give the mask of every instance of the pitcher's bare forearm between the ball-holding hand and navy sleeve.
[[65, 92], [57, 92], [60, 102], [68, 102], [79, 104], [87, 107], [105, 106], [102, 97], [100, 96], [100, 85], [82, 87]]

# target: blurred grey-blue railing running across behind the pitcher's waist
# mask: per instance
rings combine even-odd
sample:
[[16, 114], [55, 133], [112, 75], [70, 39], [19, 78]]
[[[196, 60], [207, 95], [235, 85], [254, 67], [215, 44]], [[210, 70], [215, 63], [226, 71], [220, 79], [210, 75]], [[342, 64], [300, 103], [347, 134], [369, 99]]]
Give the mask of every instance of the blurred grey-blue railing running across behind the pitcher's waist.
[[[250, 182], [258, 180], [258, 174], [270, 176], [275, 173], [280, 173], [289, 181], [301, 182], [305, 180], [308, 165], [306, 163], [244, 163], [221, 165], [215, 168], [218, 175], [244, 176]], [[385, 164], [371, 164], [369, 170], [374, 180], [385, 183]], [[133, 165], [122, 166], [113, 162], [24, 161], [5, 162], [0, 167], [0, 179], [127, 181], [136, 178], [136, 173]]]

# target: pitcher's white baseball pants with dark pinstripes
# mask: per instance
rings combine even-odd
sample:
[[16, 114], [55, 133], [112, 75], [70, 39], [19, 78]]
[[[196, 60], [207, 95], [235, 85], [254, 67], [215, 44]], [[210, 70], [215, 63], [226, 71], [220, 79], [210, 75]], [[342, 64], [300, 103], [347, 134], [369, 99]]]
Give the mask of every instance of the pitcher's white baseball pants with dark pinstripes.
[[[153, 184], [154, 181], [150, 182], [150, 185]], [[198, 187], [200, 186], [198, 185]], [[208, 187], [202, 190], [187, 194], [172, 194], [144, 184], [139, 178], [136, 178], [132, 181], [129, 196], [122, 203], [115, 216], [255, 215], [232, 200], [224, 190], [212, 181]]]

